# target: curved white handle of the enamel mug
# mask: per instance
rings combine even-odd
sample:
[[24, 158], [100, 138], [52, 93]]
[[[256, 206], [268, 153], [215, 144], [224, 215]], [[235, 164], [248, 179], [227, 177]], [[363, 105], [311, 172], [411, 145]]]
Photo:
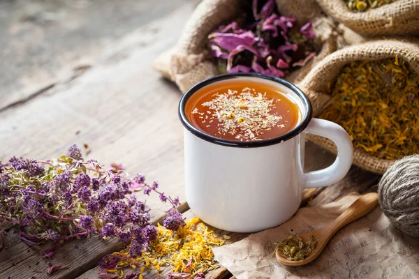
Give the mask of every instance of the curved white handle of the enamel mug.
[[346, 130], [332, 121], [314, 118], [311, 119], [304, 133], [327, 137], [337, 146], [337, 157], [332, 165], [304, 174], [304, 188], [330, 186], [343, 179], [351, 168], [353, 153], [351, 137]]

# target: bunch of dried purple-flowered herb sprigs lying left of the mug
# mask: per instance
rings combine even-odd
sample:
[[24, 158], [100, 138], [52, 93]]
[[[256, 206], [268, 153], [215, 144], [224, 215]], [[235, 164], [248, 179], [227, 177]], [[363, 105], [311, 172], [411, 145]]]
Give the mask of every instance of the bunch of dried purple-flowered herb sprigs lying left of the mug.
[[131, 243], [130, 254], [140, 255], [157, 231], [134, 191], [157, 193], [171, 204], [163, 223], [168, 229], [184, 225], [176, 209], [179, 198], [167, 197], [158, 186], [145, 183], [142, 174], [131, 181], [121, 167], [105, 169], [96, 160], [83, 160], [75, 145], [50, 161], [13, 157], [0, 164], [0, 224], [20, 225], [20, 239], [31, 244], [98, 234]]

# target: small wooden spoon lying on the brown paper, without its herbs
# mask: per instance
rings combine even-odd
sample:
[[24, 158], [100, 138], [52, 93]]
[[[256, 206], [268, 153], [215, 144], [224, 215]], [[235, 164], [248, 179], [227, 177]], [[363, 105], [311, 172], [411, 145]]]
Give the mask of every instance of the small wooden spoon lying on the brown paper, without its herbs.
[[325, 248], [326, 244], [328, 244], [329, 239], [344, 225], [351, 223], [353, 220], [356, 220], [365, 214], [372, 211], [376, 204], [378, 203], [378, 194], [377, 193], [368, 193], [358, 197], [351, 206], [348, 207], [339, 217], [337, 217], [332, 223], [329, 225], [322, 227], [321, 229], [316, 229], [313, 232], [309, 232], [308, 234], [302, 234], [298, 237], [302, 239], [304, 243], [306, 243], [310, 236], [314, 236], [316, 238], [316, 247], [314, 250], [311, 251], [308, 257], [302, 259], [301, 261], [290, 261], [281, 257], [277, 250], [276, 255], [279, 262], [285, 264], [286, 266], [302, 266], [303, 264], [308, 264], [309, 262], [313, 261], [320, 255], [323, 248]]

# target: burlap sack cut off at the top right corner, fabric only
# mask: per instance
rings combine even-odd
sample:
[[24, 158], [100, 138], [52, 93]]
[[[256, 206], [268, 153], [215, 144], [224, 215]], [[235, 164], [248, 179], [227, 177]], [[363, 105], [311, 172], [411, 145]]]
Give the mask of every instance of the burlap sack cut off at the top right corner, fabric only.
[[363, 36], [419, 35], [419, 1], [398, 0], [354, 13], [344, 0], [316, 0], [325, 13]]

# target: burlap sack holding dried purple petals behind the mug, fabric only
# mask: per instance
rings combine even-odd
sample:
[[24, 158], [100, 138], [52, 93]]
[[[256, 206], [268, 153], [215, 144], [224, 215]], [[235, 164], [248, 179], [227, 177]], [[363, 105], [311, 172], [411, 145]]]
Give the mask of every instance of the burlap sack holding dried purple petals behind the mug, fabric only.
[[[220, 24], [240, 15], [242, 1], [203, 0], [186, 23], [177, 45], [163, 53], [155, 61], [154, 68], [174, 81], [182, 92], [201, 80], [218, 75], [208, 52], [208, 35]], [[296, 17], [300, 24], [313, 22], [314, 43], [321, 49], [309, 63], [284, 78], [298, 82], [318, 61], [336, 50], [335, 23], [321, 14], [321, 8], [314, 0], [276, 1], [281, 15]]]

